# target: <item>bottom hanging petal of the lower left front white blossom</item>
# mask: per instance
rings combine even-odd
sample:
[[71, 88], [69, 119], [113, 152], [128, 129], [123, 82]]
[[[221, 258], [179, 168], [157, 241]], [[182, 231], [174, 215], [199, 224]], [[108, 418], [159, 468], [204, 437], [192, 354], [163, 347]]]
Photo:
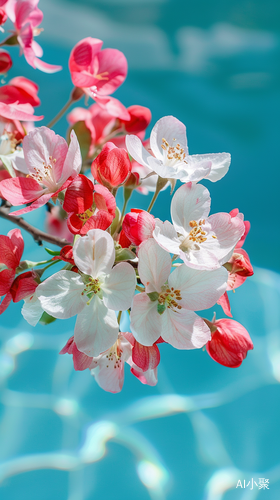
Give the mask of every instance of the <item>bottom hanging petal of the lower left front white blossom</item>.
[[94, 297], [78, 314], [74, 340], [79, 351], [87, 356], [99, 356], [117, 340], [118, 322], [114, 311], [105, 307], [99, 297]]

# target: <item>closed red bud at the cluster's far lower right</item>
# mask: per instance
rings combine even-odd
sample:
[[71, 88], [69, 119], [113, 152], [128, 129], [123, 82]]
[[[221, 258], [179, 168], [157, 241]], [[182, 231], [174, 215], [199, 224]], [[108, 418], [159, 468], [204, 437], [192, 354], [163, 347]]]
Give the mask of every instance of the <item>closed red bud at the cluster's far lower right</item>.
[[253, 349], [253, 342], [247, 330], [232, 319], [219, 319], [212, 323], [212, 338], [206, 350], [212, 359], [223, 366], [237, 368]]

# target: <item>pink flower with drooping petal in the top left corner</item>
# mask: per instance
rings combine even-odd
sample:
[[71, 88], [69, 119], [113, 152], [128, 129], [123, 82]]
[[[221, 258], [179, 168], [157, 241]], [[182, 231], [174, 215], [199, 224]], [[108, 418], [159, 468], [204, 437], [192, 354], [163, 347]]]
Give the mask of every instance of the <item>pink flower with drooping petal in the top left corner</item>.
[[9, 1], [5, 10], [14, 23], [15, 36], [28, 64], [45, 73], [55, 73], [60, 71], [62, 67], [45, 63], [39, 59], [43, 55], [43, 50], [34, 40], [34, 36], [39, 35], [41, 31], [37, 26], [43, 20], [43, 12], [37, 7], [38, 2], [39, 0]]

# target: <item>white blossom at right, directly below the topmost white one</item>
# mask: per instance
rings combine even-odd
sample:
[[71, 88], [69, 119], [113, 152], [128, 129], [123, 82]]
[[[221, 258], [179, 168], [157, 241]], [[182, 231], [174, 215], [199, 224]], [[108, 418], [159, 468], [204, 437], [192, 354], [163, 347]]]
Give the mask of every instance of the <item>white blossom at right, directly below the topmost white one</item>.
[[157, 221], [153, 232], [162, 248], [194, 269], [217, 269], [227, 262], [245, 229], [242, 219], [227, 213], [208, 217], [210, 203], [204, 186], [184, 184], [171, 202], [173, 225]]

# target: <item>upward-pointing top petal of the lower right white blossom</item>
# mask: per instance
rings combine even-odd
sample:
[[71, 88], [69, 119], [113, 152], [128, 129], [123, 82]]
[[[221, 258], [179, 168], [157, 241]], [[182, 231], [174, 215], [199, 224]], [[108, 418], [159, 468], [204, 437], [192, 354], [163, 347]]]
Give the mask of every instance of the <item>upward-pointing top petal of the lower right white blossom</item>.
[[154, 239], [141, 243], [138, 251], [138, 272], [146, 292], [161, 292], [171, 270], [171, 257]]

